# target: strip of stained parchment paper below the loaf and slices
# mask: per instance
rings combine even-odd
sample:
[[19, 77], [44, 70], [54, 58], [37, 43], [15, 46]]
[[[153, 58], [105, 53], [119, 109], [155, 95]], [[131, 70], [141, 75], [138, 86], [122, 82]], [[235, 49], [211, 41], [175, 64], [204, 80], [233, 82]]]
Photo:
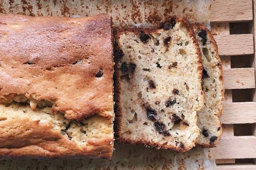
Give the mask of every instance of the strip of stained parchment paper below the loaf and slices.
[[1, 170], [214, 170], [215, 160], [208, 149], [193, 148], [185, 153], [129, 146], [115, 142], [112, 160], [2, 160]]

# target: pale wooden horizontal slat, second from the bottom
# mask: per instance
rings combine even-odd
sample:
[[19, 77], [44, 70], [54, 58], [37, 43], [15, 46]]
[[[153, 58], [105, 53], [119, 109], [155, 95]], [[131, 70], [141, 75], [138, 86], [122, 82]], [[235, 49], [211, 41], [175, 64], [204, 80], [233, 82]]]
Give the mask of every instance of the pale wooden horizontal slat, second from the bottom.
[[217, 159], [256, 158], [256, 136], [222, 137], [212, 152]]

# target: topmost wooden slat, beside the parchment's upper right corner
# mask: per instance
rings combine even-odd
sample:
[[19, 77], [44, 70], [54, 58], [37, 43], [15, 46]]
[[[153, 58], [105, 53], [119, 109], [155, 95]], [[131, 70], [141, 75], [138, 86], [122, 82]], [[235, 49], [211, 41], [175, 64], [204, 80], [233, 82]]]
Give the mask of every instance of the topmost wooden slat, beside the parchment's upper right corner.
[[252, 0], [212, 0], [211, 22], [248, 22], [253, 20]]

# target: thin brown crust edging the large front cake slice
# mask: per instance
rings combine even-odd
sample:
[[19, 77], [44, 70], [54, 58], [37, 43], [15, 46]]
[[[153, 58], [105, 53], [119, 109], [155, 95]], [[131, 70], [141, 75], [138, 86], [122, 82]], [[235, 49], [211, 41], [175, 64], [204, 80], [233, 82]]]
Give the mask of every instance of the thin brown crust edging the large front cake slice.
[[[189, 36], [190, 37], [193, 37], [193, 43], [195, 44], [196, 46], [196, 54], [197, 54], [197, 59], [198, 59], [198, 65], [199, 67], [197, 68], [197, 70], [199, 71], [199, 77], [198, 79], [201, 81], [201, 78], [202, 78], [202, 55], [201, 55], [201, 50], [199, 48], [199, 44], [196, 40], [196, 36], [195, 36], [195, 32], [193, 30], [193, 27], [192, 25], [188, 22], [188, 20], [186, 18], [181, 18], [181, 17], [177, 17], [177, 16], [173, 16], [173, 18], [175, 19], [176, 22], [182, 22], [184, 23], [184, 26], [187, 28], [187, 31], [189, 33]], [[153, 32], [156, 32], [157, 29], [161, 29], [161, 28], [118, 28], [117, 29], [117, 33], [115, 35], [115, 41], [116, 41], [116, 44], [114, 45], [114, 49], [118, 50], [119, 47], [118, 47], [118, 39], [120, 37], [121, 34], [124, 34], [125, 32], [134, 32], [135, 34], [140, 34], [140, 31], [143, 31], [145, 32], [146, 34], [149, 34], [149, 33], [153, 33]], [[120, 58], [114, 58], [114, 61], [115, 62], [118, 62]], [[115, 65], [114, 66], [114, 101], [115, 101], [115, 106], [114, 106], [114, 110], [115, 110], [115, 123], [114, 123], [114, 128], [115, 128], [115, 138], [121, 142], [121, 143], [125, 143], [125, 144], [132, 144], [132, 145], [146, 145], [146, 146], [153, 146], [153, 147], [156, 147], [156, 148], [164, 148], [164, 149], [173, 149], [173, 150], [176, 150], [178, 152], [186, 152], [188, 150], [190, 150], [193, 146], [194, 146], [194, 143], [191, 144], [191, 146], [189, 147], [184, 147], [184, 148], [181, 148], [181, 147], [175, 147], [175, 146], [171, 146], [171, 145], [165, 145], [165, 144], [156, 144], [154, 142], [149, 142], [149, 141], [146, 141], [144, 139], [139, 139], [139, 140], [132, 140], [132, 139], [129, 139], [129, 138], [125, 138], [121, 135], [121, 129], [122, 129], [122, 125], [121, 125], [121, 120], [122, 120], [122, 111], [121, 111], [121, 108], [120, 108], [120, 83], [119, 83], [119, 78], [121, 76], [121, 73], [120, 73], [120, 70], [118, 69], [118, 66]], [[201, 91], [201, 94], [202, 94], [202, 98], [204, 99], [204, 93], [203, 91]]]

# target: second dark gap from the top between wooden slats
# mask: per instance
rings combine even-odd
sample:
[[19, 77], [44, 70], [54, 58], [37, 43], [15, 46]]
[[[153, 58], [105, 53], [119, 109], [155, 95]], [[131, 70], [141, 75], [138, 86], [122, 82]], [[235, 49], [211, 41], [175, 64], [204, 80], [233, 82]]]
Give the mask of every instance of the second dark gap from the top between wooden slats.
[[231, 68], [251, 68], [254, 56], [232, 56]]

